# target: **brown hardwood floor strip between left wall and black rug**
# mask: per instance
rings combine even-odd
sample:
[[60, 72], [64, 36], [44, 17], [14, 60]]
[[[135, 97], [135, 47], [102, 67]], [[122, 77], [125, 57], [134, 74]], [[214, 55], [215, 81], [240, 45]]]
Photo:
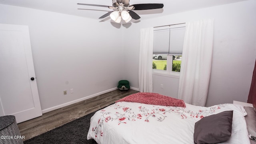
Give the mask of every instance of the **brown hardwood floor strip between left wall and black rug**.
[[34, 136], [71, 122], [72, 120], [90, 114], [91, 112], [100, 110], [101, 108], [114, 103], [116, 100], [137, 92], [138, 91], [131, 89], [127, 91], [114, 90], [82, 102], [77, 102], [76, 104], [46, 112], [38, 118], [19, 123], [18, 127], [20, 134], [25, 136], [24, 140], [28, 140]]

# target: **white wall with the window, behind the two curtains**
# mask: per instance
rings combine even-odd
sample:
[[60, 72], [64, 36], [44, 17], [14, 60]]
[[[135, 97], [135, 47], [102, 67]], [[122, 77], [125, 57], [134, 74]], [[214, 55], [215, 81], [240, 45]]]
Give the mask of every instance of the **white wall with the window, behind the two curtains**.
[[[206, 106], [233, 100], [246, 102], [256, 58], [255, 14], [256, 1], [248, 0], [133, 23], [124, 28], [127, 41], [132, 42], [132, 46], [124, 48], [126, 79], [138, 88], [140, 28], [214, 18], [212, 72]], [[153, 83], [153, 92], [177, 98], [177, 78], [153, 76]], [[163, 89], [160, 84], [164, 84]]]

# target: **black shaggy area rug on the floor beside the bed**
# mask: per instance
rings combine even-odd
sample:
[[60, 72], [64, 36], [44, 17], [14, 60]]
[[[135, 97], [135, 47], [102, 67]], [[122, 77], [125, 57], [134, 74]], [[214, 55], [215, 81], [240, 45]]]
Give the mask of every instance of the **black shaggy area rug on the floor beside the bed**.
[[94, 113], [26, 140], [24, 144], [97, 144], [94, 140], [87, 140], [90, 118]]

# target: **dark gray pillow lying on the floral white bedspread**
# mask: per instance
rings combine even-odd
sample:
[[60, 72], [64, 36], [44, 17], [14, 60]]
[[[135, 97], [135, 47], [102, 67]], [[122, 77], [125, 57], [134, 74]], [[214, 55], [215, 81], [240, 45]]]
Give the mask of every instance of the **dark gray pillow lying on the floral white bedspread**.
[[233, 110], [206, 116], [196, 122], [195, 144], [214, 144], [227, 141], [232, 132]]

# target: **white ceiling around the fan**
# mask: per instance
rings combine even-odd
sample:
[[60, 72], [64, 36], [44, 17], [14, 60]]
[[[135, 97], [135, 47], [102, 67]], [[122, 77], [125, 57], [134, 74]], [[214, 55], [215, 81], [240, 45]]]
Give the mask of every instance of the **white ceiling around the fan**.
[[[132, 4], [144, 3], [162, 3], [164, 8], [157, 10], [134, 10], [140, 15], [140, 20], [174, 14], [178, 12], [185, 12], [188, 10], [196, 10], [211, 6], [218, 6], [223, 4], [230, 4], [245, 0], [130, 0]], [[8, 4], [13, 6], [21, 6], [26, 8], [34, 8], [38, 10], [46, 10], [51, 12], [58, 12], [63, 14], [70, 14], [75, 16], [82, 16], [86, 18], [98, 19], [100, 16], [112, 11], [111, 9], [98, 6], [84, 6], [77, 5], [77, 3], [84, 4], [99, 4], [112, 6], [112, 0], [0, 0], [0, 4]], [[78, 8], [95, 9], [95, 10], [78, 10]], [[97, 11], [106, 10], [106, 11]], [[107, 17], [104, 21], [109, 20]], [[100, 20], [99, 20], [100, 21]]]

